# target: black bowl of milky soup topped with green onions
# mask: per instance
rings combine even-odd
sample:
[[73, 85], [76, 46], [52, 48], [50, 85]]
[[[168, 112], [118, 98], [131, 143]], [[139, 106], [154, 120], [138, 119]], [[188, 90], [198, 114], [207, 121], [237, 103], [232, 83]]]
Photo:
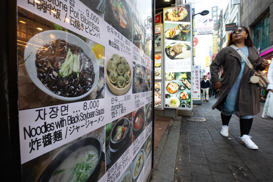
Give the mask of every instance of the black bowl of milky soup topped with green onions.
[[[80, 139], [66, 147], [50, 162], [38, 182], [97, 181], [101, 156], [102, 146], [97, 138]], [[85, 165], [90, 167], [79, 170], [80, 166]]]

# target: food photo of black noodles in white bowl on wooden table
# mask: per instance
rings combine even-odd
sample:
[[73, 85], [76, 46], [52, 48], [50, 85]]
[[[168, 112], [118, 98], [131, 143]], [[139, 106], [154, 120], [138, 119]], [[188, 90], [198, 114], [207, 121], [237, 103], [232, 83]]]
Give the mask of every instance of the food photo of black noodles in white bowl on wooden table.
[[28, 32], [18, 38], [20, 109], [104, 98], [104, 46], [51, 21], [41, 24], [27, 10], [19, 12], [19, 21], [42, 27], [20, 23]]

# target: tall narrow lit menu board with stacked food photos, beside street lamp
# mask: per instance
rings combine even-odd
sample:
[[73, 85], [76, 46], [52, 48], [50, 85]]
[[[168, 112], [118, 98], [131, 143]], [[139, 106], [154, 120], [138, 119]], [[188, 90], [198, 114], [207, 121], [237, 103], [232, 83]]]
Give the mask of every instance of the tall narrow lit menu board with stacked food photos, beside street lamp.
[[165, 108], [192, 108], [191, 4], [163, 9]]

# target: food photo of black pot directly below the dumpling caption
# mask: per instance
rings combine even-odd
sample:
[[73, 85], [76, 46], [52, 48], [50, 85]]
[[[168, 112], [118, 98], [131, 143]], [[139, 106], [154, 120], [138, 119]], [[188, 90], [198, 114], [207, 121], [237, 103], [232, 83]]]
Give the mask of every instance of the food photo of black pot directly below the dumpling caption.
[[105, 162], [108, 170], [132, 144], [132, 113], [105, 126]]

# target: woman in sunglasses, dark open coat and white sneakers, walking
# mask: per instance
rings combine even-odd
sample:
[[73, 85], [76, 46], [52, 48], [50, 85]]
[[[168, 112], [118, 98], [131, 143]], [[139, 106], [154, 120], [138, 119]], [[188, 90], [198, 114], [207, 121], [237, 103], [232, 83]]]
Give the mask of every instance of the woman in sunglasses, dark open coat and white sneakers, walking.
[[[245, 65], [245, 60], [230, 45], [235, 45], [253, 64], [254, 69], [263, 70], [268, 61], [260, 62], [257, 49], [249, 36], [246, 27], [234, 28], [229, 38], [228, 46], [219, 51], [211, 64], [211, 80], [216, 90], [219, 89], [219, 99], [213, 105], [221, 111], [222, 129], [220, 134], [229, 136], [229, 121], [232, 114], [236, 114], [240, 120], [239, 142], [251, 149], [258, 146], [251, 140], [253, 117], [260, 112], [260, 103], [257, 84], [249, 82], [253, 70]], [[218, 70], [223, 67], [223, 75], [219, 81]]]

